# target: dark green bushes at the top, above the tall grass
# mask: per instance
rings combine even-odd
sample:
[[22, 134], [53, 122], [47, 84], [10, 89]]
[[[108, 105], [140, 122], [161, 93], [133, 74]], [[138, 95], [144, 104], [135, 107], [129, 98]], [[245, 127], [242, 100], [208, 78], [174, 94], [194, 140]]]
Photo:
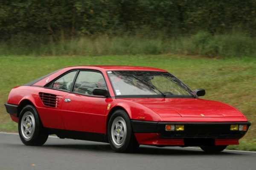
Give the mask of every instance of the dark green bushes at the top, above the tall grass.
[[0, 6], [4, 40], [18, 33], [43, 34], [49, 41], [136, 34], [145, 27], [166, 36], [233, 29], [256, 34], [256, 0], [5, 0]]

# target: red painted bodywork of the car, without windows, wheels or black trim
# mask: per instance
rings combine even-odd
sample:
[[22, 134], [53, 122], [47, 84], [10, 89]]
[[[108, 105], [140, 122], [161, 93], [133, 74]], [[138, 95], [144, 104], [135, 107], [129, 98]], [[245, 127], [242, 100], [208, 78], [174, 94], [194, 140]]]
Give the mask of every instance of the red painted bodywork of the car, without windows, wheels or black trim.
[[[111, 98], [85, 96], [44, 88], [47, 82], [70, 70], [90, 69], [102, 72]], [[76, 66], [61, 69], [31, 86], [12, 89], [8, 104], [20, 105], [29, 100], [37, 109], [44, 127], [106, 134], [108, 114], [112, 109], [124, 109], [130, 119], [155, 122], [247, 122], [245, 116], [230, 105], [199, 98], [115, 98], [107, 71], [163, 71], [157, 68], [132, 66]], [[39, 92], [58, 95], [62, 99], [58, 108], [44, 106]], [[63, 102], [69, 98], [72, 102]], [[108, 110], [108, 104], [111, 104]], [[205, 116], [202, 117], [201, 114]], [[18, 122], [18, 118], [11, 116]], [[143, 119], [141, 119], [143, 118]], [[136, 133], [140, 144], [184, 145], [183, 139], [160, 139], [158, 133]], [[226, 140], [226, 139], [225, 139]], [[216, 144], [238, 144], [238, 139], [217, 140]]]

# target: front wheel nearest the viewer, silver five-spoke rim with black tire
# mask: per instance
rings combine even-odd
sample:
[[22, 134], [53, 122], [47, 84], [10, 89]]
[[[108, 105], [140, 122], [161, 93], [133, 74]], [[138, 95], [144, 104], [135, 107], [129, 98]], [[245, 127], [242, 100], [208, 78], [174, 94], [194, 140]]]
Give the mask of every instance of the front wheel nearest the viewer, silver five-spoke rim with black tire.
[[132, 133], [131, 121], [127, 113], [117, 110], [108, 122], [108, 140], [116, 152], [135, 152], [139, 144]]

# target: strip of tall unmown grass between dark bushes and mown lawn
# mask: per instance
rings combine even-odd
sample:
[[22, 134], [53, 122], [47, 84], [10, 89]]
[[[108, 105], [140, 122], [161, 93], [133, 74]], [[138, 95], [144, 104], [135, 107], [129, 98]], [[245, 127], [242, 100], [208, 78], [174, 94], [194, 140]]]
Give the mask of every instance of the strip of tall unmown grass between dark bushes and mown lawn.
[[4, 55], [134, 55], [192, 54], [207, 57], [255, 57], [256, 38], [239, 32], [212, 35], [200, 31], [195, 35], [167, 37], [137, 34], [97, 37], [77, 37], [73, 40], [48, 42], [45, 36], [17, 36], [0, 42]]

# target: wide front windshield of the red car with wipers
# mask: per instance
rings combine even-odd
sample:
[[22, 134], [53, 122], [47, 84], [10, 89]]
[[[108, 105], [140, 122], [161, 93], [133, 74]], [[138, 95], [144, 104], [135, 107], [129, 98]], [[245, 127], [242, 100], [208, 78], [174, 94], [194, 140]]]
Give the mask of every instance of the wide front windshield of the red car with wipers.
[[167, 72], [108, 71], [116, 96], [194, 96], [179, 79]]

